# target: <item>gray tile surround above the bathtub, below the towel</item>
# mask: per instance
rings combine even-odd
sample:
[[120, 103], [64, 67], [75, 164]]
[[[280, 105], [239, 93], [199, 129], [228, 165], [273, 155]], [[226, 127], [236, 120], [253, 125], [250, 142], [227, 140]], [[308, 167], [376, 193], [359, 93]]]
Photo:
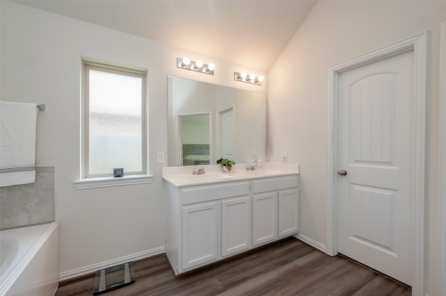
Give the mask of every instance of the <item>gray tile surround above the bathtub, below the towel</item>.
[[0, 230], [54, 219], [54, 166], [36, 167], [34, 183], [0, 188]]

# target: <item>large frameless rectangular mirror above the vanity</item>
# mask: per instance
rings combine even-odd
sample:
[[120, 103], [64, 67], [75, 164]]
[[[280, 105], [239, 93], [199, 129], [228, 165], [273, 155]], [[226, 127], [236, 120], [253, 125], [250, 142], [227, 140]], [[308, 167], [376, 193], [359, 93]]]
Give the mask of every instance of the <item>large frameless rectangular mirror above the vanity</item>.
[[266, 94], [168, 79], [169, 166], [266, 161]]

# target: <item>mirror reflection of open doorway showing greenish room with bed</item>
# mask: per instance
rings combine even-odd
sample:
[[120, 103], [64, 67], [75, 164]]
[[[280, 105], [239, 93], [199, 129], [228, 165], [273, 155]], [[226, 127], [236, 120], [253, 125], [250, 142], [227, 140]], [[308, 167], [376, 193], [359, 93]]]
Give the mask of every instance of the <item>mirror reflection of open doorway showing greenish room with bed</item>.
[[180, 115], [181, 165], [210, 163], [210, 114]]

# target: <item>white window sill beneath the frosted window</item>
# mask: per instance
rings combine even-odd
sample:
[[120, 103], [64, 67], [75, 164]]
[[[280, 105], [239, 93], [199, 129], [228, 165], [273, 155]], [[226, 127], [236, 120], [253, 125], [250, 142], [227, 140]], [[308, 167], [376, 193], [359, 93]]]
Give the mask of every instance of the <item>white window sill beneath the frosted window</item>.
[[113, 176], [104, 176], [101, 178], [91, 178], [82, 179], [75, 181], [76, 189], [87, 189], [87, 188], [100, 188], [100, 187], [110, 187], [110, 186], [123, 186], [123, 185], [133, 185], [142, 183], [152, 183], [153, 176], [148, 174], [135, 174], [128, 176], [121, 176], [115, 178]]

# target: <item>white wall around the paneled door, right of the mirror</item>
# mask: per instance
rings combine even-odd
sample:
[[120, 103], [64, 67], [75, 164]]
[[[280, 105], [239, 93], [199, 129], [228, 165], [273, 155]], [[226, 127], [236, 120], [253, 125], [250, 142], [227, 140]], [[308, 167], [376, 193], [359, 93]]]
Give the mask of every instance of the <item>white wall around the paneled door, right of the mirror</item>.
[[325, 245], [328, 67], [429, 31], [425, 293], [438, 295], [437, 165], [440, 21], [446, 1], [319, 1], [269, 75], [268, 159], [300, 163], [301, 233]]

